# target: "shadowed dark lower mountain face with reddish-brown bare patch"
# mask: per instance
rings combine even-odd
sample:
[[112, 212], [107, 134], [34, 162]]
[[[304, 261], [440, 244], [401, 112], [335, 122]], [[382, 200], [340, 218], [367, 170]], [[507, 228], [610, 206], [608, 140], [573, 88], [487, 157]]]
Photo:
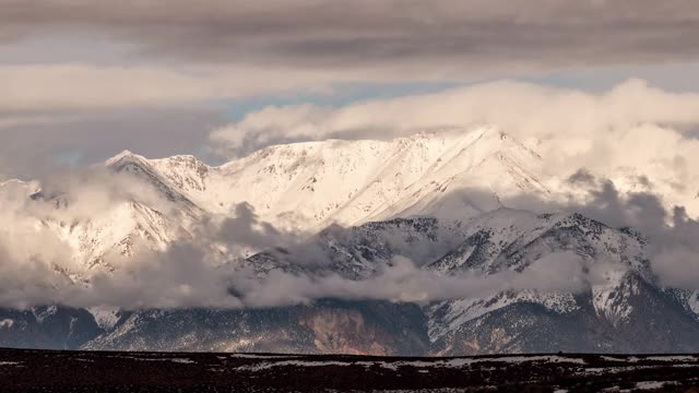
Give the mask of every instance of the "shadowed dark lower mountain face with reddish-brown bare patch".
[[415, 305], [322, 300], [260, 310], [139, 311], [83, 347], [299, 354], [419, 355], [429, 350]]

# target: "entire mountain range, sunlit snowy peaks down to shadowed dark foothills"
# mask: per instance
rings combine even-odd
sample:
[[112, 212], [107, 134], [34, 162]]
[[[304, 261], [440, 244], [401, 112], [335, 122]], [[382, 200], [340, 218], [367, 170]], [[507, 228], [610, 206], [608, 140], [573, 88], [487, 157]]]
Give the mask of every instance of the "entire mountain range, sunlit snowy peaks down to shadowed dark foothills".
[[[228, 217], [248, 201], [261, 218], [304, 230], [291, 247], [264, 241], [246, 259], [227, 261], [234, 272], [365, 281], [400, 257], [441, 277], [534, 272], [533, 283], [500, 287], [494, 278], [488, 290], [420, 303], [324, 296], [238, 310], [0, 310], [0, 345], [374, 355], [699, 352], [699, 296], [659, 285], [643, 236], [580, 214], [502, 207], [508, 194], [558, 192], [535, 175], [538, 159], [491, 129], [454, 139], [272, 146], [221, 167], [125, 152], [107, 168], [138, 179], [157, 203], [138, 193], [94, 216], [40, 222], [73, 248], [74, 263], [58, 267], [76, 285], [94, 272], [119, 272], [110, 257], [137, 258], [137, 242], [167, 250], [197, 236], [193, 223]], [[35, 186], [12, 187], [33, 188], [26, 194], [35, 203], [60, 202], [57, 211], [70, 203], [36, 193]], [[490, 191], [459, 191], [470, 187]], [[280, 239], [288, 234], [268, 229]], [[585, 278], [542, 289], [564, 254], [580, 261]]]

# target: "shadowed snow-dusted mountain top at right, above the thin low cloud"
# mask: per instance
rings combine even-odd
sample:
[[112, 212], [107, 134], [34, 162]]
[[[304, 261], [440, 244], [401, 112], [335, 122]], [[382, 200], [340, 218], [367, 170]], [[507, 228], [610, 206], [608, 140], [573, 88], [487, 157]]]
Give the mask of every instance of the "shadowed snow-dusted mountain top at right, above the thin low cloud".
[[429, 269], [495, 273], [521, 271], [545, 253], [573, 251], [591, 261], [623, 263], [648, 272], [643, 260], [645, 240], [580, 214], [534, 214], [499, 209], [464, 224], [465, 241]]

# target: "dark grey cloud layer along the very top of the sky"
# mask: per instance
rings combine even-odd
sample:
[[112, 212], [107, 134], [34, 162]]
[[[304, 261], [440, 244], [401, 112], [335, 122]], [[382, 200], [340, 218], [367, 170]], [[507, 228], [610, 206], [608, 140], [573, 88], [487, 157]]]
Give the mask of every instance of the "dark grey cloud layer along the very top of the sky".
[[430, 72], [450, 73], [699, 55], [699, 4], [684, 0], [0, 3], [5, 40], [96, 32], [142, 45], [146, 53], [203, 62], [415, 71], [429, 66]]

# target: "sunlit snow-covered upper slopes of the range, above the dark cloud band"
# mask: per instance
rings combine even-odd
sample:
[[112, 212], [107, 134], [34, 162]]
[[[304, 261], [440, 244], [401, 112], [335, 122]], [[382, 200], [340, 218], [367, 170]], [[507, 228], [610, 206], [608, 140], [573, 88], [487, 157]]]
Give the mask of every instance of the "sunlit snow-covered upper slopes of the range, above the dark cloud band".
[[[393, 141], [327, 141], [271, 146], [221, 167], [193, 156], [146, 159], [125, 151], [105, 166], [132, 176], [167, 203], [134, 194], [88, 219], [46, 219], [86, 267], [112, 270], [107, 255], [131, 255], [137, 241], [163, 250], [204, 216], [230, 216], [239, 203], [282, 228], [317, 231], [390, 216], [445, 212], [466, 218], [497, 206], [497, 192], [522, 184], [546, 192], [533, 175], [535, 153], [494, 128], [417, 134]], [[531, 163], [534, 163], [530, 165]], [[530, 168], [531, 167], [531, 168]], [[445, 202], [450, 188], [494, 191]], [[37, 194], [46, 199], [47, 196]], [[57, 206], [61, 206], [60, 203]]]

